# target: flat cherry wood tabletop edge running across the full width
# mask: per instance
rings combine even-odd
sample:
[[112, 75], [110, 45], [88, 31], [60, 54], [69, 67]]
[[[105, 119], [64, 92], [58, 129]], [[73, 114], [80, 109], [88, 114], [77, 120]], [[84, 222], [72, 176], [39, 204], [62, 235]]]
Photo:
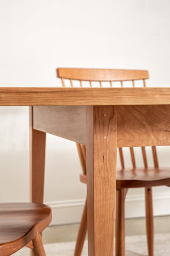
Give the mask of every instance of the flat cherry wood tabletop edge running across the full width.
[[0, 106], [169, 105], [170, 88], [0, 87]]

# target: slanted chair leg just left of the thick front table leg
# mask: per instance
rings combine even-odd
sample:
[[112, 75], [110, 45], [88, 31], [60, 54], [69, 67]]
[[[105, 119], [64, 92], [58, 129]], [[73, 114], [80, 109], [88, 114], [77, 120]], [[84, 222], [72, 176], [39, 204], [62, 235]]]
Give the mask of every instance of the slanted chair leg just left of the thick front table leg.
[[86, 238], [87, 232], [87, 199], [84, 205], [84, 210], [82, 214], [82, 220], [79, 226], [78, 236], [76, 238], [76, 245], [74, 250], [74, 256], [80, 256], [82, 254], [82, 249], [84, 245], [84, 240]]

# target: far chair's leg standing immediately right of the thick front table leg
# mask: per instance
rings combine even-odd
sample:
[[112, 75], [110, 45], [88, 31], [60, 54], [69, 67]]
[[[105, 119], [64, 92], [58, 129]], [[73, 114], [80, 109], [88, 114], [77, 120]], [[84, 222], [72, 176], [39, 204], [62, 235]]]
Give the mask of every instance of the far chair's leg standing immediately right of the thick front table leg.
[[116, 256], [125, 256], [125, 196], [127, 191], [126, 189], [116, 191]]

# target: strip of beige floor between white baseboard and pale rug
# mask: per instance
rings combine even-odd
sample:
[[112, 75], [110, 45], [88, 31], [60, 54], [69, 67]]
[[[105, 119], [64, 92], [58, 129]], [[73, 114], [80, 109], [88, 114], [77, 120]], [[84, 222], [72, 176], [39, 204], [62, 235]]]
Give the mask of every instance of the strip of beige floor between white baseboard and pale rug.
[[[71, 242], [76, 240], [79, 224], [50, 226], [43, 232], [44, 243]], [[154, 233], [170, 233], [170, 216], [154, 218]], [[126, 236], [146, 234], [145, 218], [133, 218], [125, 221]]]

